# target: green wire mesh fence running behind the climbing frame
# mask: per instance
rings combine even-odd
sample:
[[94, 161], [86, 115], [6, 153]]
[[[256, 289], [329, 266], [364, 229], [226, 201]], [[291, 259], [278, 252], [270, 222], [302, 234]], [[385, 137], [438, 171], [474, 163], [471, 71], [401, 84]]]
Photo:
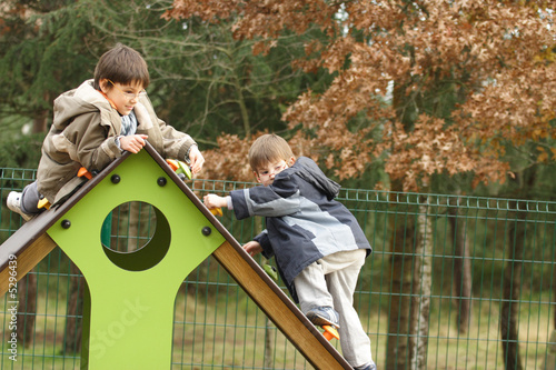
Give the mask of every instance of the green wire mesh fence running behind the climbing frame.
[[[3, 242], [22, 222], [6, 198], [36, 173], [0, 171]], [[199, 197], [254, 186], [188, 184]], [[338, 200], [374, 247], [355, 306], [379, 369], [554, 369], [556, 203], [360, 189]], [[262, 229], [261, 219], [232, 212], [220, 220], [240, 243]], [[150, 204], [121, 204], [107, 216], [102, 243], [141, 248], [155, 222]], [[17, 298], [0, 298], [0, 369], [80, 368], [82, 299], [82, 276], [54, 249]], [[183, 281], [173, 322], [172, 369], [311, 369], [212, 258]]]

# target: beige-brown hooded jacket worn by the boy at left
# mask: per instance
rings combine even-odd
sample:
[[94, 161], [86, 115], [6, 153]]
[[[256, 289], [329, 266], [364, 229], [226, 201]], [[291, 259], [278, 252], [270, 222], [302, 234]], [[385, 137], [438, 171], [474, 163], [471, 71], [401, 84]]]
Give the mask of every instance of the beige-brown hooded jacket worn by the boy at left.
[[[149, 143], [165, 158], [186, 158], [195, 141], [160, 120], [148, 97], [140, 98], [133, 111], [136, 133], [147, 134]], [[116, 143], [120, 133], [121, 116], [92, 87], [92, 80], [62, 93], [54, 100], [52, 127], [42, 144], [37, 172], [39, 192], [52, 204], [63, 201], [85, 181], [77, 177], [79, 168], [101, 171], [121, 157]]]

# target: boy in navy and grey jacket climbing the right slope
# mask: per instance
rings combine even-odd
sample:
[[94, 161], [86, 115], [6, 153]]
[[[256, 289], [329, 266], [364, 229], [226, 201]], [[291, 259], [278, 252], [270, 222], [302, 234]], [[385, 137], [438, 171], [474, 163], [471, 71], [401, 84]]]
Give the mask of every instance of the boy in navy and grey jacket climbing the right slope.
[[316, 326], [335, 326], [344, 357], [355, 369], [376, 369], [370, 340], [354, 308], [359, 271], [371, 248], [355, 217], [334, 200], [339, 184], [289, 144], [264, 134], [249, 149], [249, 164], [264, 187], [207, 194], [210, 208], [232, 209], [238, 220], [266, 217], [266, 230], [244, 249], [276, 258], [301, 311]]

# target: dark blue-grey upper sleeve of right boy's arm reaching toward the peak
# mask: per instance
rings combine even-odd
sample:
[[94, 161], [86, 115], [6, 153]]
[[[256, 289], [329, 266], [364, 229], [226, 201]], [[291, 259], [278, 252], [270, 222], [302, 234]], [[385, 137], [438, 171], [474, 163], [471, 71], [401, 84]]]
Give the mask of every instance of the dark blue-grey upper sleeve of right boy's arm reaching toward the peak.
[[289, 176], [277, 179], [268, 187], [231, 191], [236, 218], [242, 220], [252, 216], [282, 217], [298, 212], [301, 207], [297, 184]]

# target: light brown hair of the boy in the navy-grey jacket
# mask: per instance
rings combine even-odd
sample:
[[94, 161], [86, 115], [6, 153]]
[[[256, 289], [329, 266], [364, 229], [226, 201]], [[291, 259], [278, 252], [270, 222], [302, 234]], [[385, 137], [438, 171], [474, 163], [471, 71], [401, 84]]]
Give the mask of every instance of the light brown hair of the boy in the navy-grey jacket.
[[275, 133], [258, 137], [249, 148], [249, 164], [255, 172], [272, 161], [289, 160], [294, 156], [290, 146], [284, 138]]

